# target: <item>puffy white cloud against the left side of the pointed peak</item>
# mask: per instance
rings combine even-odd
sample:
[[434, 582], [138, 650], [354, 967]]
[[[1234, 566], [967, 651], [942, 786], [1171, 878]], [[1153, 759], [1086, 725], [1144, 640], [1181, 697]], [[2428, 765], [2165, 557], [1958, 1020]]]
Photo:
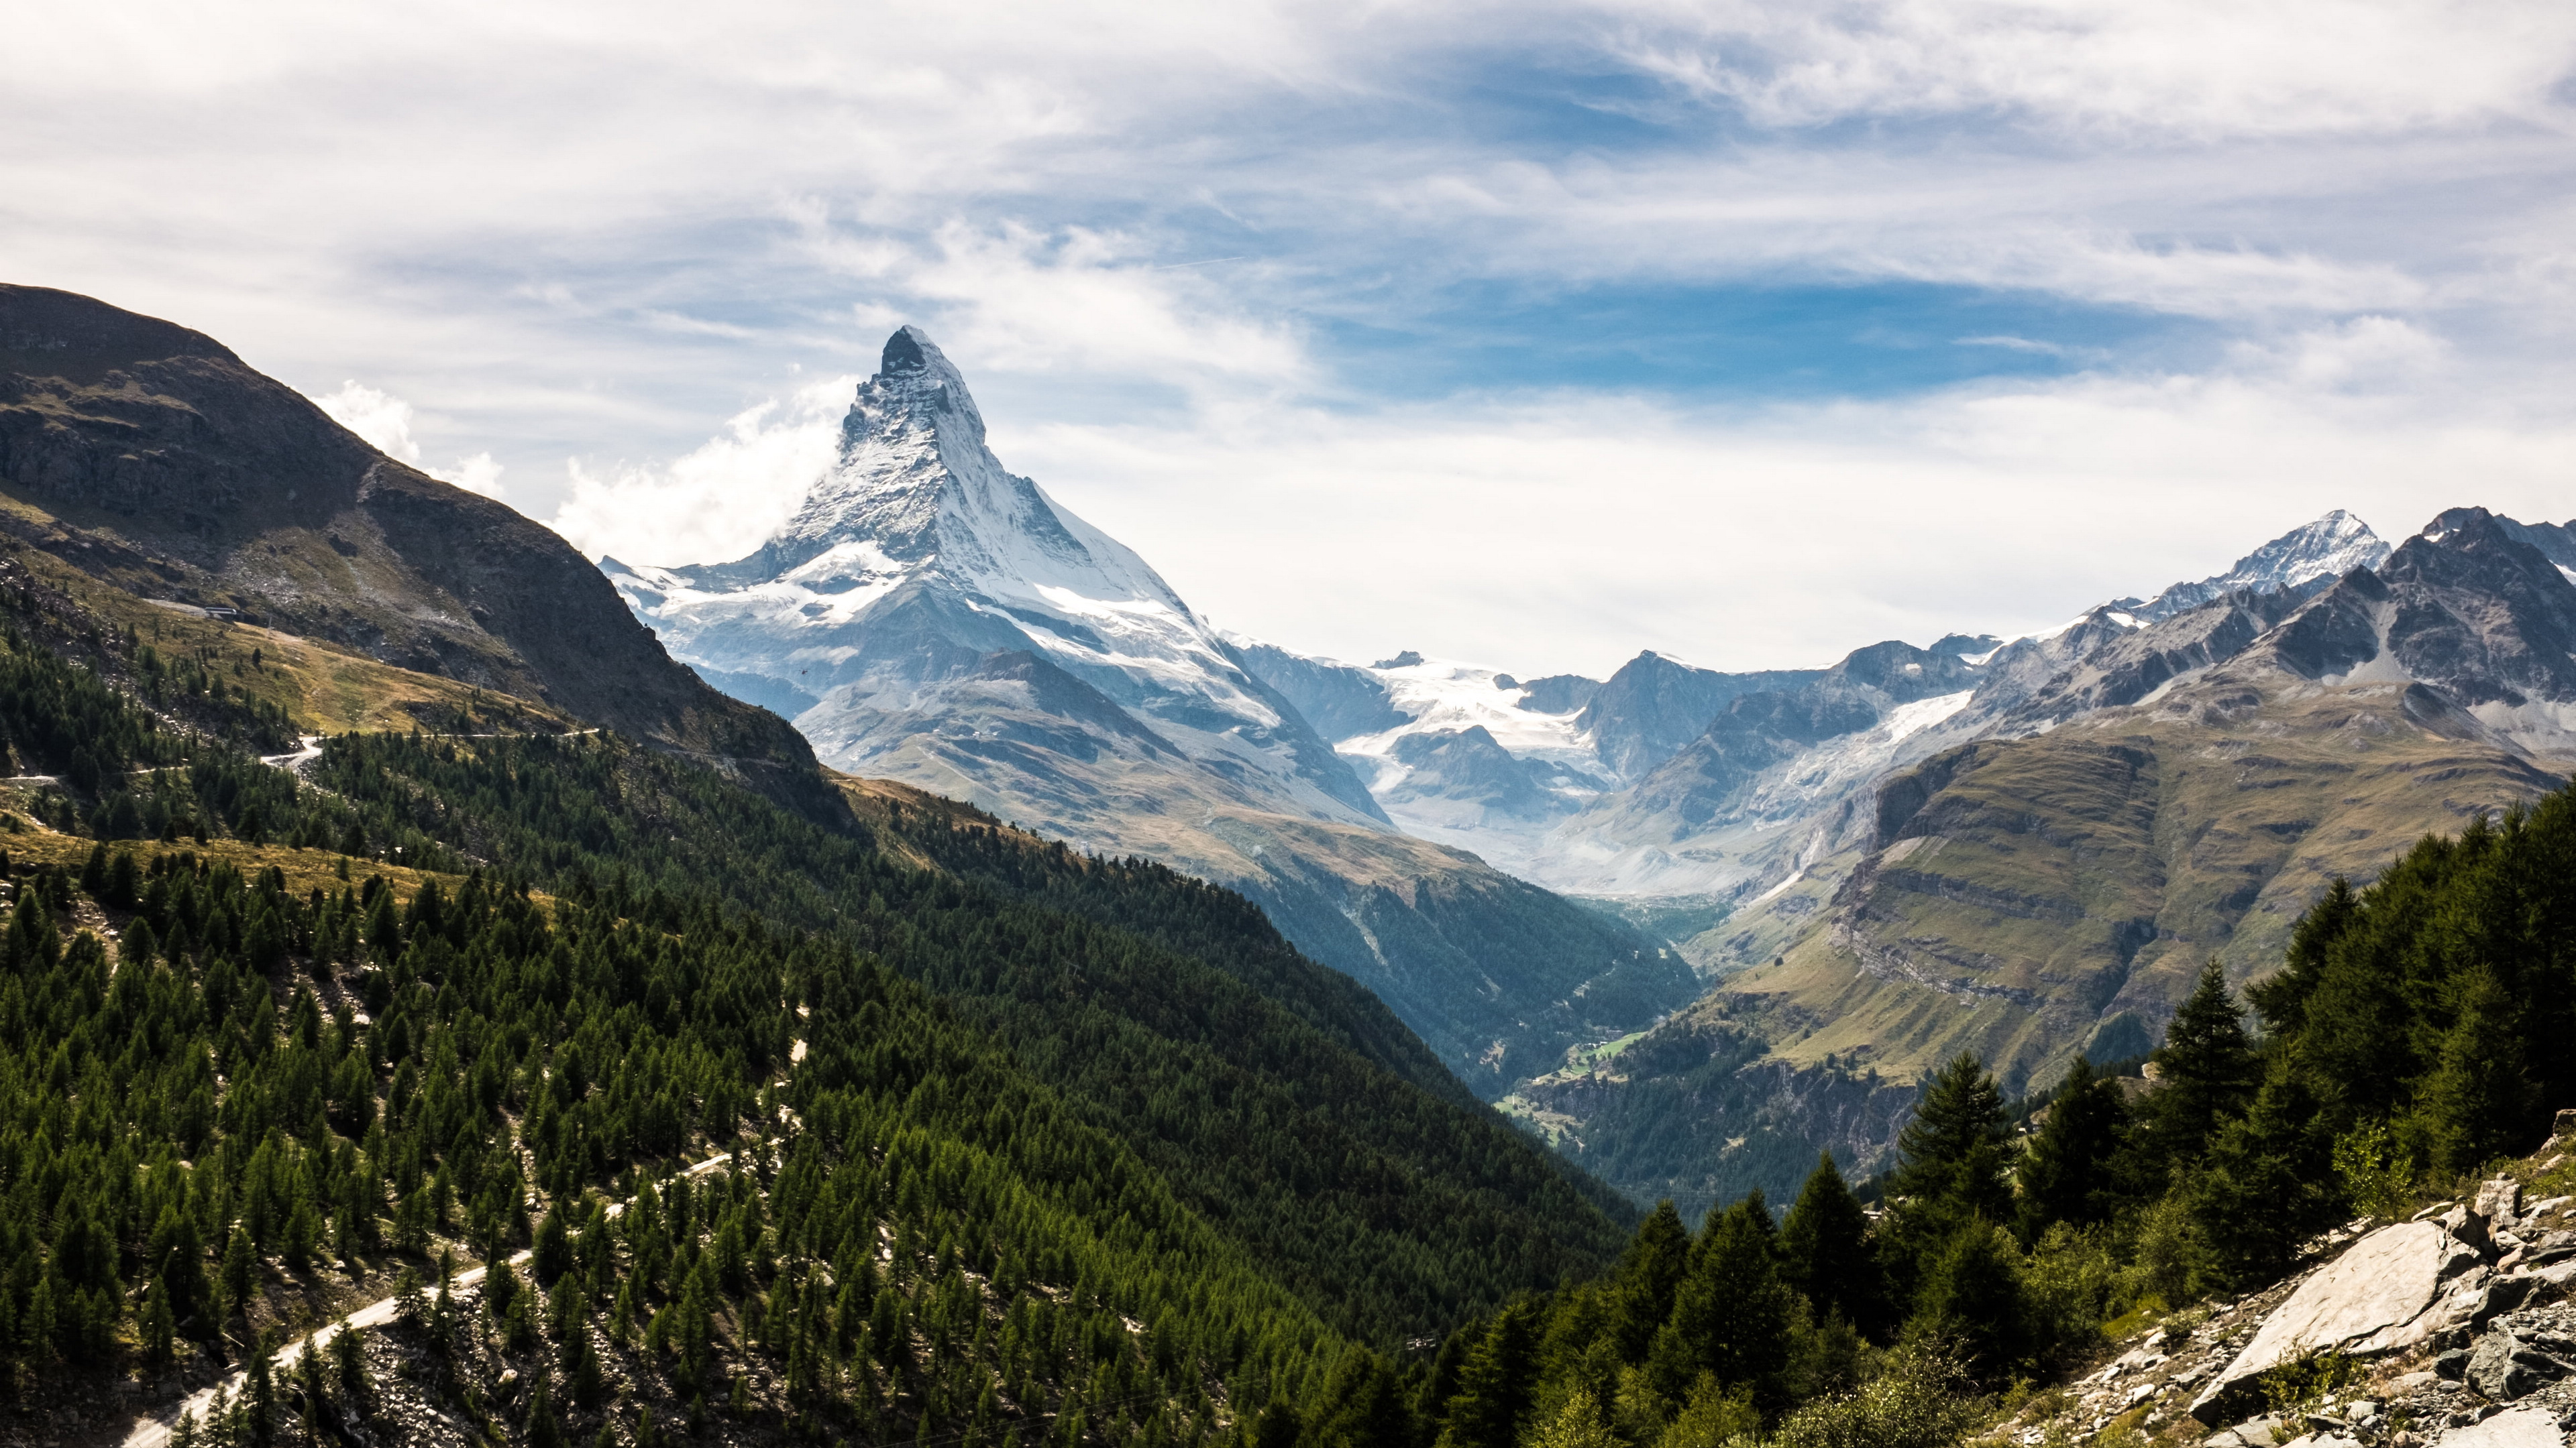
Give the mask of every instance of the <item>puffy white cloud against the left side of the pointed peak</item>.
[[737, 559], [768, 541], [829, 466], [855, 389], [855, 376], [835, 376], [744, 407], [724, 435], [662, 466], [572, 459], [554, 531], [590, 557], [636, 564]]

